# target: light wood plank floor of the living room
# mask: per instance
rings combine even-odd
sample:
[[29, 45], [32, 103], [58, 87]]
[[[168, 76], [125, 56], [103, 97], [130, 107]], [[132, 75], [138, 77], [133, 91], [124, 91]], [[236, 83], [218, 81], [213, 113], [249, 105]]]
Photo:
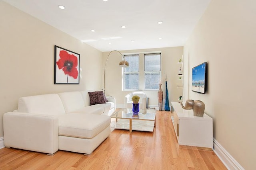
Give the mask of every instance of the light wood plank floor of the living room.
[[157, 111], [154, 132], [113, 130], [90, 156], [3, 148], [0, 170], [226, 170], [213, 151], [179, 147], [170, 115]]

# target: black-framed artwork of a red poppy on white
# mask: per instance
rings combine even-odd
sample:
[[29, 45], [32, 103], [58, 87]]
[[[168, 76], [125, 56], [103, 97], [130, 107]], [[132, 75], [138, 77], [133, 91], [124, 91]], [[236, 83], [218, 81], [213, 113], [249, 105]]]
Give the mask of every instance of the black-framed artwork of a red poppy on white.
[[54, 47], [54, 84], [79, 84], [80, 55], [57, 45]]

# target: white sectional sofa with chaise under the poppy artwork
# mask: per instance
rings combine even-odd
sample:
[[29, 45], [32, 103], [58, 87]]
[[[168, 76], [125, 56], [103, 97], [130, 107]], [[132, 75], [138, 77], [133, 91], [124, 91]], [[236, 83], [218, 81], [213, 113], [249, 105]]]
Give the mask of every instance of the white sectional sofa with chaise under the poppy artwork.
[[110, 135], [115, 98], [90, 106], [88, 91], [22, 97], [18, 109], [4, 113], [4, 145], [54, 154], [90, 155]]

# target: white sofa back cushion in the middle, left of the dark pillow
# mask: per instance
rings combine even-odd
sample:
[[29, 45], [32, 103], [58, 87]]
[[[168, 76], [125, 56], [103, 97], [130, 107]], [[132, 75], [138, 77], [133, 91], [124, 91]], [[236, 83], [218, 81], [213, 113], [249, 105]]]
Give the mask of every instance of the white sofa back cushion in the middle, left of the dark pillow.
[[58, 93], [58, 95], [62, 100], [66, 113], [72, 113], [85, 106], [81, 92], [63, 92]]

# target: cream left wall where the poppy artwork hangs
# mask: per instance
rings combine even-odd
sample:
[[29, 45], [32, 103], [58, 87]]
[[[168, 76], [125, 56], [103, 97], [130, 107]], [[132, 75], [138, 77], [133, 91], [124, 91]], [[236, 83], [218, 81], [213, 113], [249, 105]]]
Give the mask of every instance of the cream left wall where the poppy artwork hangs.
[[[80, 54], [80, 84], [54, 84], [54, 45]], [[102, 52], [0, 0], [0, 138], [3, 114], [18, 98], [100, 90]]]

